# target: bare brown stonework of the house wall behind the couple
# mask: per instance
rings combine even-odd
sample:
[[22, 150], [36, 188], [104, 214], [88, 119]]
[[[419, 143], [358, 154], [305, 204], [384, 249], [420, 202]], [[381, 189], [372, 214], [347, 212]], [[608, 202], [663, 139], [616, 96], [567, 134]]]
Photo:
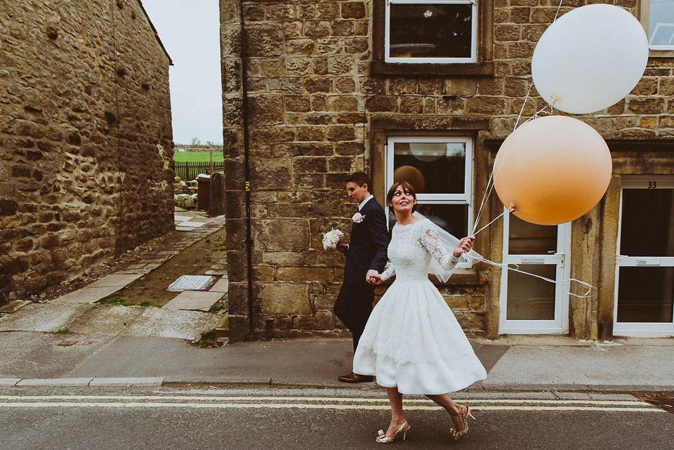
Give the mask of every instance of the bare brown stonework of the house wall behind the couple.
[[[490, 10], [482, 11], [481, 17], [493, 20], [481, 23], [489, 27], [486, 35], [492, 40], [487, 44], [493, 57], [491, 73], [414, 76], [371, 72], [377, 53], [374, 29], [381, 26], [376, 8], [383, 2], [244, 1], [253, 312], [259, 333], [298, 336], [343, 329], [331, 309], [344, 260], [337, 252], [322, 251], [322, 232], [332, 227], [350, 230], [355, 206], [345, 197], [348, 173], [371, 173], [375, 194], [382, 200], [386, 133], [427, 130], [475, 136], [474, 204], [480, 203], [494, 142], [513, 131], [531, 86], [531, 55], [558, 4], [483, 1]], [[585, 3], [564, 1], [560, 14]], [[617, 4], [636, 13], [637, 0]], [[220, 10], [230, 331], [241, 336], [248, 293], [239, 1], [220, 0]], [[672, 67], [670, 60], [652, 58], [626, 100], [579, 119], [607, 139], [673, 136]], [[522, 116], [531, 117], [545, 105], [534, 88]], [[482, 225], [490, 215], [501, 213], [498, 200], [492, 200]], [[491, 227], [491, 232], [499, 231], [498, 225]], [[500, 249], [490, 241], [499, 239], [482, 239], [477, 250], [498, 256]], [[497, 333], [498, 286], [495, 290], [487, 285], [498, 284], [498, 277], [498, 272], [479, 267], [441, 286], [469, 333]]]

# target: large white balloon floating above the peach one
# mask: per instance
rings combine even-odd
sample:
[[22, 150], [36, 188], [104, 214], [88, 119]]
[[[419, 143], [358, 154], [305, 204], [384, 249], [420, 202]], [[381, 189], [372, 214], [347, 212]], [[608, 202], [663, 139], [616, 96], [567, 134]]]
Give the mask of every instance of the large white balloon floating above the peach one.
[[603, 110], [637, 85], [648, 62], [648, 39], [623, 8], [581, 6], [555, 20], [534, 49], [531, 77], [557, 110]]

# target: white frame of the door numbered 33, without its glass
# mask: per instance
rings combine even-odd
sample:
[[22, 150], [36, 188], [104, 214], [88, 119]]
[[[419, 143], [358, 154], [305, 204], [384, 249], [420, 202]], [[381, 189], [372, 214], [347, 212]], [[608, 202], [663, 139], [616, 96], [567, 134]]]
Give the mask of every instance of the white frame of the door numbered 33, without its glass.
[[[656, 183], [655, 185], [649, 183]], [[649, 187], [650, 186], [650, 187]], [[623, 219], [624, 189], [674, 189], [674, 176], [623, 176], [620, 190], [620, 213], [618, 218], [618, 240], [616, 242], [616, 284], [614, 287], [613, 335], [635, 338], [661, 338], [674, 336], [674, 322], [618, 322], [618, 284], [620, 267], [674, 266], [674, 257], [666, 256], [623, 256], [620, 254], [621, 227]]]

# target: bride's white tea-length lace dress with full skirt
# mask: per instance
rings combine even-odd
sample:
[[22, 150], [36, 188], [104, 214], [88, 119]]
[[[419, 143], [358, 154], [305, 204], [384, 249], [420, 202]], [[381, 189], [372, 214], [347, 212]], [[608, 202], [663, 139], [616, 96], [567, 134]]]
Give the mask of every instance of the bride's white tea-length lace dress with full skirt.
[[376, 304], [360, 338], [353, 371], [375, 375], [377, 383], [403, 394], [445, 394], [487, 378], [461, 325], [428, 279], [435, 258], [445, 270], [455, 270], [458, 258], [444, 249], [433, 225], [420, 219], [396, 224], [388, 246], [395, 274]]

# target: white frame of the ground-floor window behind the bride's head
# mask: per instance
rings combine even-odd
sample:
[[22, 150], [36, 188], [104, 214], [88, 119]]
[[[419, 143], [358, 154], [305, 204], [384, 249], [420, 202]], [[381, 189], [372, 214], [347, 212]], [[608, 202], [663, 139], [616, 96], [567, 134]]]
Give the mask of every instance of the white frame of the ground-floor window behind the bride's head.
[[[447, 205], [468, 205], [468, 224], [466, 230], [468, 235], [473, 233], [473, 183], [475, 183], [475, 173], [473, 173], [473, 138], [465, 135], [461, 136], [389, 136], [385, 146], [385, 194], [388, 188], [393, 184], [393, 150], [395, 143], [462, 143], [465, 145], [465, 176], [463, 185], [463, 194], [416, 194], [418, 204], [447, 204]], [[388, 214], [386, 215], [388, 225]], [[456, 236], [461, 238], [463, 236]], [[458, 267], [470, 267], [466, 262], [461, 262]]]

